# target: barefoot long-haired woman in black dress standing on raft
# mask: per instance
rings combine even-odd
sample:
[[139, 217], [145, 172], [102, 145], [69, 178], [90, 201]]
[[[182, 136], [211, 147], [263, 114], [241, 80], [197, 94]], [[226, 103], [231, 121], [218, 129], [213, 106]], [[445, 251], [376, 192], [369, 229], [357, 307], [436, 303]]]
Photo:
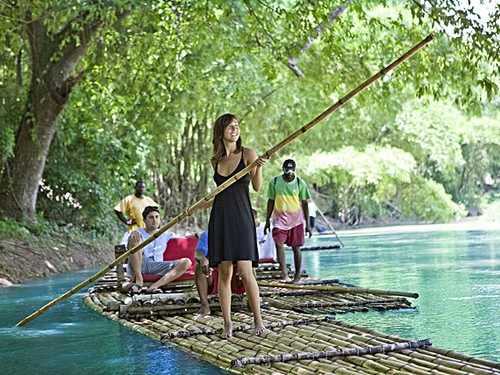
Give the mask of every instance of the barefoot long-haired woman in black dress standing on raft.
[[219, 268], [219, 300], [224, 318], [222, 338], [232, 336], [231, 278], [233, 264], [248, 296], [254, 316], [255, 335], [264, 332], [260, 315], [259, 286], [253, 268], [259, 262], [249, 183], [259, 191], [262, 186], [262, 166], [267, 159], [257, 158], [251, 148], [244, 148], [240, 128], [232, 114], [220, 116], [213, 129], [212, 166], [217, 186], [226, 182], [247, 165], [257, 160], [257, 166], [247, 175], [217, 194], [213, 200], [208, 224], [208, 255], [211, 267]]

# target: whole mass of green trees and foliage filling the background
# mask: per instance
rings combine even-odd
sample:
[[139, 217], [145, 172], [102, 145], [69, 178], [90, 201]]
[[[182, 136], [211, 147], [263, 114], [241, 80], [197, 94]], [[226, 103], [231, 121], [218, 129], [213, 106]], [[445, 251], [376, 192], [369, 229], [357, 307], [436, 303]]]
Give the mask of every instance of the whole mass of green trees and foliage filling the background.
[[295, 158], [343, 220], [447, 221], [496, 197], [494, 2], [33, 0], [0, 17], [5, 217], [105, 228], [137, 179], [173, 217], [214, 187], [218, 115], [264, 153], [430, 33], [265, 178]]

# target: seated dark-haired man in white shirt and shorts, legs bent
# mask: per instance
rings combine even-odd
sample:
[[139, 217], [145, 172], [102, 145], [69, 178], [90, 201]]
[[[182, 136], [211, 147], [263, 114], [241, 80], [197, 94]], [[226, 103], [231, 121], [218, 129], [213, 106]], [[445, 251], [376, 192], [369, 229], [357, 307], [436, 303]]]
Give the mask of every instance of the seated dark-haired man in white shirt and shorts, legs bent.
[[[147, 206], [142, 217], [145, 228], [139, 228], [130, 234], [128, 248], [140, 244], [142, 241], [153, 236], [160, 226], [160, 211], [158, 207]], [[163, 252], [167, 248], [167, 242], [173, 237], [171, 233], [164, 232], [146, 245], [143, 249], [136, 251], [130, 256], [127, 264], [127, 274], [131, 279], [135, 278], [135, 283], [131, 286], [131, 294], [142, 292], [144, 285], [143, 274], [161, 275], [161, 278], [146, 289], [146, 293], [161, 293], [160, 287], [181, 277], [191, 266], [189, 258], [181, 258], [174, 261], [164, 261]]]

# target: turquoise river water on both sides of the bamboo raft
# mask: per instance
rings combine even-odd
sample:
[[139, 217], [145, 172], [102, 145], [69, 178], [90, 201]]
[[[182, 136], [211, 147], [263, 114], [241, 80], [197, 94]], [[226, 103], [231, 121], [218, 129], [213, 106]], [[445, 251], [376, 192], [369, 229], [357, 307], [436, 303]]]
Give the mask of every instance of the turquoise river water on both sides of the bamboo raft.
[[[416, 309], [337, 319], [500, 362], [500, 228], [418, 226], [339, 232], [345, 247], [304, 251], [310, 276], [419, 293]], [[307, 245], [336, 243], [315, 236]], [[292, 254], [286, 252], [287, 261]], [[85, 290], [15, 324], [96, 273], [0, 288], [0, 366], [9, 374], [223, 374], [88, 308]]]

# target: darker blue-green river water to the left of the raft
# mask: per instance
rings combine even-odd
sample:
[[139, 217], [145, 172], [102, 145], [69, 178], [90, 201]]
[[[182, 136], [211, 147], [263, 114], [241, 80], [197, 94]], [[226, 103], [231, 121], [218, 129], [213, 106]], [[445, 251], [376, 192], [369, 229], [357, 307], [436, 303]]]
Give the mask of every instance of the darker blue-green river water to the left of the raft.
[[0, 288], [3, 374], [223, 374], [217, 367], [161, 345], [91, 310], [73, 295], [22, 327], [24, 317], [98, 270]]

